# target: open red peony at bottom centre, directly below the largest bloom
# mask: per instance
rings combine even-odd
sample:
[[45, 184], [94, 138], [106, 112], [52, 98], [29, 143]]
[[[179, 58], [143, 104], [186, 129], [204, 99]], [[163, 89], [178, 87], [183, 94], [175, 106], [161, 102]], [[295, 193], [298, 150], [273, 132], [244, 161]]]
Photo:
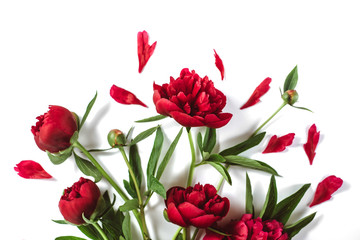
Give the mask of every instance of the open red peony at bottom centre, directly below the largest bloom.
[[230, 203], [216, 193], [214, 186], [196, 184], [186, 189], [172, 187], [166, 193], [166, 212], [172, 223], [182, 227], [207, 228], [222, 219]]

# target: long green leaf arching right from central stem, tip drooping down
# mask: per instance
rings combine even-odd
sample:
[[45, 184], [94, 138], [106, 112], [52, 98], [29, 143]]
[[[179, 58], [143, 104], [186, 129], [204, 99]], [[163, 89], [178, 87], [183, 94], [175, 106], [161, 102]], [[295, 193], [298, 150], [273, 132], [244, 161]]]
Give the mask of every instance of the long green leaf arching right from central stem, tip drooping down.
[[268, 164], [258, 161], [258, 160], [246, 158], [243, 156], [232, 156], [232, 155], [225, 156], [224, 158], [226, 159], [226, 163], [231, 164], [231, 165], [237, 165], [237, 166], [246, 167], [246, 168], [250, 168], [250, 169], [260, 170], [263, 172], [273, 174], [275, 176], [279, 176], [279, 174], [276, 172], [275, 169], [273, 169]]

